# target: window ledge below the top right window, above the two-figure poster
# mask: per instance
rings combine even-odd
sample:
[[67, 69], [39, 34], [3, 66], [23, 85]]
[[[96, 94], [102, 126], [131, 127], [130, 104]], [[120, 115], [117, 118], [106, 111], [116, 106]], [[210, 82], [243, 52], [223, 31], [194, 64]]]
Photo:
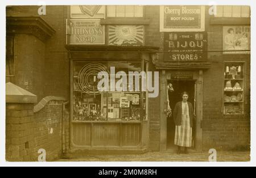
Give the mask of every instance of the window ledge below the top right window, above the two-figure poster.
[[212, 25], [250, 25], [251, 18], [210, 18]]

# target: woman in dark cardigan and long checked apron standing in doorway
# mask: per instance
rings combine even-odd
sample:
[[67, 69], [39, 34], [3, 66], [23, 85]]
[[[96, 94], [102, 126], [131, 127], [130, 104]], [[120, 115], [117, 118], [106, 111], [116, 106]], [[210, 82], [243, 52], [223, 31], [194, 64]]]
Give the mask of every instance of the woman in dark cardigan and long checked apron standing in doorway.
[[181, 153], [181, 147], [184, 147], [184, 153], [188, 154], [188, 147], [192, 146], [192, 127], [193, 127], [193, 106], [188, 102], [188, 93], [181, 94], [182, 101], [177, 103], [174, 108], [175, 123], [175, 141], [178, 146], [177, 154]]

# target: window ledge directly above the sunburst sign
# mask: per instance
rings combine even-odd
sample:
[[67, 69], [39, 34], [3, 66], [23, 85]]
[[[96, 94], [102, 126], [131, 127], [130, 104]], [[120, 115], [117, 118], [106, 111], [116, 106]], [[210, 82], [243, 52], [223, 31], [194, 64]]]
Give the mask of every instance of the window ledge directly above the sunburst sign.
[[102, 25], [149, 25], [149, 19], [101, 19]]

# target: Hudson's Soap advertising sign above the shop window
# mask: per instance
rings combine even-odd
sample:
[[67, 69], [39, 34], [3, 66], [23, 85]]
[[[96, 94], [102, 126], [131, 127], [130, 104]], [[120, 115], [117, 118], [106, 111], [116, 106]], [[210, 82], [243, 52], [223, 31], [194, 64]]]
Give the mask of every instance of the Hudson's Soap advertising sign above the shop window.
[[100, 19], [67, 20], [67, 44], [105, 44], [105, 28]]

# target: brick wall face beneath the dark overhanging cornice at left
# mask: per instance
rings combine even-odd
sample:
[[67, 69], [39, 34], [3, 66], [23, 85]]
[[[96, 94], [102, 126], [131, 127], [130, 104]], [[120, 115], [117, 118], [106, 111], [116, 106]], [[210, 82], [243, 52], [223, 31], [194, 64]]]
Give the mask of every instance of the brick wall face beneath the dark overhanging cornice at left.
[[16, 34], [15, 77], [10, 81], [38, 96], [44, 97], [44, 43], [35, 36]]

